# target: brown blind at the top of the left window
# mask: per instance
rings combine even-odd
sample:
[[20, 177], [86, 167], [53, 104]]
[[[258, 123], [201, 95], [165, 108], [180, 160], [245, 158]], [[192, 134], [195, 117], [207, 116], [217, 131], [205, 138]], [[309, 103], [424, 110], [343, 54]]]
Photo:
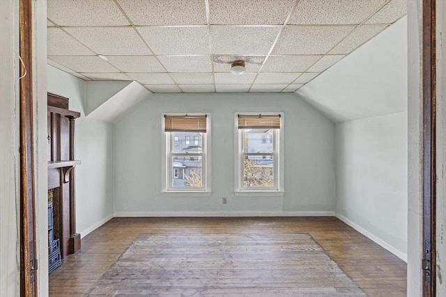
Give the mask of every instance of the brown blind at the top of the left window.
[[206, 115], [164, 115], [164, 131], [206, 133]]

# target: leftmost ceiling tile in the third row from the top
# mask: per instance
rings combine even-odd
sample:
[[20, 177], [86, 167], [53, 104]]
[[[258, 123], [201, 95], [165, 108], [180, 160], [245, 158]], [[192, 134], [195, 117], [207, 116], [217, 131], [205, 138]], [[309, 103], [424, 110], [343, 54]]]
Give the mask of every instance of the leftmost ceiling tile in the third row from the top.
[[48, 56], [48, 58], [75, 72], [119, 72], [98, 56]]

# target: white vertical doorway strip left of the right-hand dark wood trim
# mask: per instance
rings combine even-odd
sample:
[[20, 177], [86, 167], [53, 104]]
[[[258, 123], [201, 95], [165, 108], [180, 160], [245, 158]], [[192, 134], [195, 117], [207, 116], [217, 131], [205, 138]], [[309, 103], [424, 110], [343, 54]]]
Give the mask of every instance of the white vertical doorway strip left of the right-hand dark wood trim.
[[422, 296], [422, 0], [408, 1], [407, 296]]

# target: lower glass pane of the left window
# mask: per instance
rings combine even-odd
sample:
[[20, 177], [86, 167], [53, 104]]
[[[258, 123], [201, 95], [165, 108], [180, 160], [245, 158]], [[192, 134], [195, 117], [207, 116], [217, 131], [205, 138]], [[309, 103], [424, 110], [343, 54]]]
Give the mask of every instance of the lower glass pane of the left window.
[[171, 158], [173, 188], [201, 188], [202, 156], [173, 156]]

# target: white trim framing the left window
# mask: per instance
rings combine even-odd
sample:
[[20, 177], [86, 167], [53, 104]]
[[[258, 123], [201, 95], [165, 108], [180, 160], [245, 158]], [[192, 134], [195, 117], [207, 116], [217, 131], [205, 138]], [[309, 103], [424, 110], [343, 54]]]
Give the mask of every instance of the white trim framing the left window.
[[167, 133], [164, 132], [164, 115], [185, 115], [185, 113], [162, 113], [161, 114], [161, 150], [162, 150], [162, 166], [161, 166], [161, 193], [164, 196], [174, 196], [174, 197], [209, 197], [211, 193], [211, 179], [210, 163], [211, 157], [211, 120], [210, 113], [187, 113], [187, 115], [206, 115], [206, 133], [203, 134], [203, 163], [202, 168], [204, 168], [204, 178], [203, 178], [203, 188], [171, 188], [169, 186], [171, 175], [171, 168], [169, 162], [169, 147], [167, 147]]

